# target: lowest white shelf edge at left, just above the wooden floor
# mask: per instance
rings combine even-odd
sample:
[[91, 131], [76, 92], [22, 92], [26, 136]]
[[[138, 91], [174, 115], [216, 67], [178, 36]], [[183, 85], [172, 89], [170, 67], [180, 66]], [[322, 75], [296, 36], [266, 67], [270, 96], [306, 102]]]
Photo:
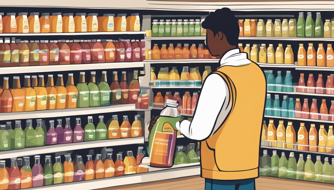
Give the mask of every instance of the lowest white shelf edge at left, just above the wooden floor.
[[91, 190], [91, 189], [100, 189], [100, 188], [114, 187], [120, 185], [129, 185], [135, 183], [159, 181], [162, 179], [174, 179], [186, 176], [194, 176], [194, 175], [199, 175], [200, 171], [201, 171], [200, 166], [198, 165], [186, 168], [172, 168], [172, 169], [166, 169], [148, 173], [131, 174], [118, 177], [94, 179], [88, 181], [77, 181], [77, 182], [62, 183], [62, 184], [42, 186], [42, 187], [33, 187], [27, 190], [59, 190], [59, 189]]

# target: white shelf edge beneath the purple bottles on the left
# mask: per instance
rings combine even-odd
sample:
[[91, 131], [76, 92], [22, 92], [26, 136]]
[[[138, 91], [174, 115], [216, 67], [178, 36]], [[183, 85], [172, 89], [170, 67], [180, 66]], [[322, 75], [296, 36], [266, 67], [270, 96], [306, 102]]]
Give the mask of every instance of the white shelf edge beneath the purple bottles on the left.
[[141, 144], [141, 143], [144, 143], [144, 137], [95, 140], [95, 141], [75, 142], [68, 144], [55, 144], [49, 146], [24, 148], [20, 150], [1, 151], [0, 159], [16, 158], [22, 156], [46, 154], [46, 153], [68, 151], [68, 150], [78, 150], [84, 148], [119, 146], [119, 145]]

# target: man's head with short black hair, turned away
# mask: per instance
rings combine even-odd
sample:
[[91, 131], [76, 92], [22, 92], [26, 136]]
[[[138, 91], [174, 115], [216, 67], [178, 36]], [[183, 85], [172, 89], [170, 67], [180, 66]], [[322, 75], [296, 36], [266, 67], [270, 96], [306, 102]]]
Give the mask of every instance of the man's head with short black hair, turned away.
[[205, 18], [206, 46], [212, 56], [221, 56], [238, 45], [239, 25], [229, 8], [217, 9]]

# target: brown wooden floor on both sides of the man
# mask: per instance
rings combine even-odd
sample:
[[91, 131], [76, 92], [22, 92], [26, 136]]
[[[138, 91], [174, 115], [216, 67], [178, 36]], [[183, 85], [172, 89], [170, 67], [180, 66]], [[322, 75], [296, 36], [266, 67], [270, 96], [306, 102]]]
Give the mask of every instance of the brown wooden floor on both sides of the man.
[[[117, 187], [103, 188], [99, 190], [204, 190], [204, 179], [199, 176], [183, 177], [138, 183]], [[333, 190], [334, 184], [307, 182], [273, 177], [260, 177], [256, 179], [258, 190]]]

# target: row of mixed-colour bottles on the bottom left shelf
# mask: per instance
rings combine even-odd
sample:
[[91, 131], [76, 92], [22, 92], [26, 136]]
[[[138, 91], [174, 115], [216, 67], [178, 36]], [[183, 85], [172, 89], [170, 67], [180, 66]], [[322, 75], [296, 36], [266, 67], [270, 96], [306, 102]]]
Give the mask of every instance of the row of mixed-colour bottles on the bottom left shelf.
[[61, 156], [56, 156], [54, 164], [52, 164], [51, 156], [45, 156], [43, 167], [40, 164], [40, 156], [36, 155], [32, 168], [30, 157], [23, 157], [23, 163], [20, 166], [17, 163], [18, 159], [11, 158], [10, 168], [6, 168], [5, 161], [1, 160], [0, 181], [2, 184], [0, 190], [25, 189], [148, 172], [146, 168], [139, 166], [144, 157], [143, 147], [138, 147], [136, 158], [132, 151], [127, 151], [123, 160], [123, 152], [120, 152], [114, 162], [112, 155], [112, 149], [110, 153], [104, 155], [104, 158], [103, 155], [96, 154], [93, 160], [93, 155], [87, 155], [86, 164], [83, 163], [81, 155], [76, 155], [72, 160], [70, 154], [65, 154], [64, 162], [61, 162]]

